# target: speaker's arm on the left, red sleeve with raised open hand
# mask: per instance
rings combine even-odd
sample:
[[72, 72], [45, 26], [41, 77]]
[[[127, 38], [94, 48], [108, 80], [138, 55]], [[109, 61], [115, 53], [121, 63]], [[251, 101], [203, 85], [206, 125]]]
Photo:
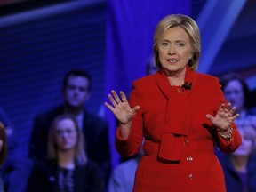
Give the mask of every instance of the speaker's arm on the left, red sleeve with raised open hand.
[[[116, 92], [112, 91], [115, 98], [108, 95], [114, 109], [112, 112], [119, 120], [116, 130], [116, 150], [120, 156], [134, 156], [140, 151], [143, 136], [143, 121], [140, 106], [143, 100], [139, 92], [138, 83], [132, 84], [132, 93], [130, 95], [130, 103], [126, 100], [124, 92], [120, 92], [121, 99], [117, 98]], [[108, 105], [106, 105], [108, 107]], [[111, 110], [111, 108], [109, 108]], [[113, 109], [113, 108], [112, 108]]]

